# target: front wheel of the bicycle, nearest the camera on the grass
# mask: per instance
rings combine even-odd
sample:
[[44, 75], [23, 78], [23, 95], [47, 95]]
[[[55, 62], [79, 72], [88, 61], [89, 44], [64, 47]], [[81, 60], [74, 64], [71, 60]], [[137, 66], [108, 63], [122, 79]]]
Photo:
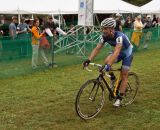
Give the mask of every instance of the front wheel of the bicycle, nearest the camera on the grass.
[[82, 119], [95, 117], [104, 105], [104, 87], [97, 79], [84, 83], [77, 96], [75, 109]]

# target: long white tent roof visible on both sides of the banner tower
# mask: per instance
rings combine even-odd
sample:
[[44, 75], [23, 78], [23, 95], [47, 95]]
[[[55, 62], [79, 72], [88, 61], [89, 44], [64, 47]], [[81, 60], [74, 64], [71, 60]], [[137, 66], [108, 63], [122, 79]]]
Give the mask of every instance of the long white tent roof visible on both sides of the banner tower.
[[[79, 0], [0, 0], [0, 14], [78, 14]], [[139, 13], [122, 0], [94, 0], [94, 13]]]

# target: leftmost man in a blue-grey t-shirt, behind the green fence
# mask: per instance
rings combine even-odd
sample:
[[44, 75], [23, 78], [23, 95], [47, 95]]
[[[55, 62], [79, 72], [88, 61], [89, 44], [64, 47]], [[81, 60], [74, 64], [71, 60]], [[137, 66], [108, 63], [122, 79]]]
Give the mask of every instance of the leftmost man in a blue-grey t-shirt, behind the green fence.
[[12, 23], [9, 25], [9, 36], [11, 37], [12, 40], [17, 38], [16, 23], [17, 23], [17, 17], [13, 16]]

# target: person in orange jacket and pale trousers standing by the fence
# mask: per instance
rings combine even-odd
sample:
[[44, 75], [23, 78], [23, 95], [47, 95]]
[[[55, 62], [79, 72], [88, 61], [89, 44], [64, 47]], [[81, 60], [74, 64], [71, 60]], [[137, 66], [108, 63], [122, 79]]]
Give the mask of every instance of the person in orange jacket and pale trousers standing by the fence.
[[32, 27], [32, 68], [37, 68], [37, 62], [38, 62], [38, 51], [40, 51], [41, 59], [44, 62], [46, 66], [49, 66], [48, 59], [45, 56], [44, 50], [42, 48], [39, 48], [39, 42], [40, 38], [45, 34], [45, 30], [41, 34], [39, 34], [39, 19], [35, 19], [33, 21], [33, 27]]

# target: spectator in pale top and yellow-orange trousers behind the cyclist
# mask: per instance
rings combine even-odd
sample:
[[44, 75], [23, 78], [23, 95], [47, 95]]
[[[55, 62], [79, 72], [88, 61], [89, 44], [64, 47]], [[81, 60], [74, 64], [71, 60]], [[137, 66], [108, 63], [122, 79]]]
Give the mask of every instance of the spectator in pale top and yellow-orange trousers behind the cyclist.
[[142, 38], [142, 29], [143, 29], [143, 24], [141, 21], [141, 15], [138, 15], [135, 18], [134, 21], [134, 31], [132, 33], [132, 37], [131, 37], [131, 42], [133, 43], [133, 51], [136, 51], [137, 48], [139, 47], [139, 42]]

